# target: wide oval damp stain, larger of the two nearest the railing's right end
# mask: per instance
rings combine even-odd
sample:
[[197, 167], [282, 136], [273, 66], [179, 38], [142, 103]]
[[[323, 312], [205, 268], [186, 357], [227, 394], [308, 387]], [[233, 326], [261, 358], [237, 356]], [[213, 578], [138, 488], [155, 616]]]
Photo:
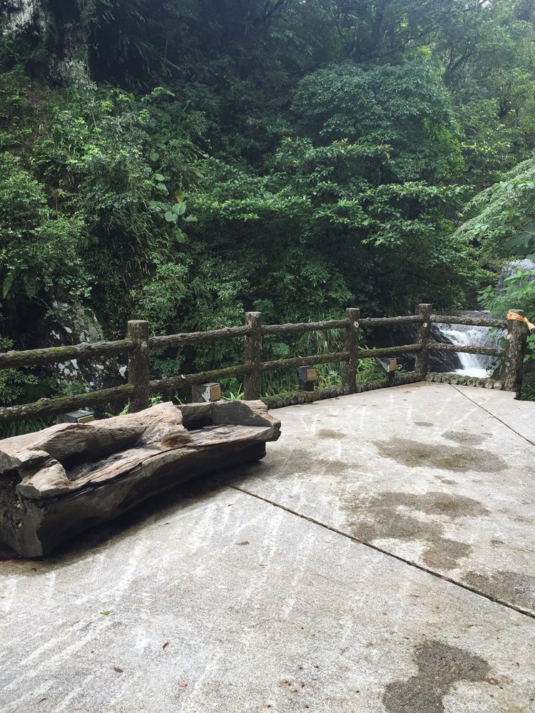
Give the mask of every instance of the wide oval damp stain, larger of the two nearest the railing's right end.
[[500, 473], [507, 464], [495, 453], [482, 448], [459, 448], [444, 446], [440, 443], [421, 443], [408, 438], [389, 438], [387, 441], [374, 441], [377, 451], [402, 466], [414, 468], [442, 468], [446, 471], [464, 473]]

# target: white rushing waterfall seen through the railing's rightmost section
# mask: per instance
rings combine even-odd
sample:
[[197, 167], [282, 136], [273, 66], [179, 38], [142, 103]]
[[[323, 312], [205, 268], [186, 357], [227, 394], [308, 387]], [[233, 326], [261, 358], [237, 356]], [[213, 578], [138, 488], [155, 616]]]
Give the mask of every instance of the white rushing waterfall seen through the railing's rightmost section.
[[[454, 312], [459, 317], [487, 317], [488, 312], [462, 311]], [[468, 324], [437, 324], [438, 329], [444, 337], [447, 337], [452, 344], [464, 344], [469, 347], [496, 347], [498, 346], [501, 332], [491, 332], [490, 327], [473, 327]], [[474, 376], [484, 379], [489, 376], [492, 357], [482, 354], [464, 354], [457, 352], [461, 369], [456, 369], [457, 374]]]

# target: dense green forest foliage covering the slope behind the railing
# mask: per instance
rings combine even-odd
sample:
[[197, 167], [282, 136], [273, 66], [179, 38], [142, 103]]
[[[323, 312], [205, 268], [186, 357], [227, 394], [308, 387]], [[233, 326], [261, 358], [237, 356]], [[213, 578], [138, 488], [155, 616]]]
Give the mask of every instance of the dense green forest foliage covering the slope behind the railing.
[[163, 333], [456, 307], [523, 254], [506, 238], [535, 221], [535, 0], [41, 0], [6, 31], [14, 5], [0, 327], [17, 345], [55, 301], [110, 337], [134, 317]]

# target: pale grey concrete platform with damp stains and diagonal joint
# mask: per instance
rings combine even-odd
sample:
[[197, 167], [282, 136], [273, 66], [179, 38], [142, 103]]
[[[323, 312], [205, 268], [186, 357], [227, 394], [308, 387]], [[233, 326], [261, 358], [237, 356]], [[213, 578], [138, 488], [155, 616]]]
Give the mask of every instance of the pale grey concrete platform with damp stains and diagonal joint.
[[535, 711], [534, 404], [415, 384], [279, 415], [261, 463], [5, 555], [2, 712]]

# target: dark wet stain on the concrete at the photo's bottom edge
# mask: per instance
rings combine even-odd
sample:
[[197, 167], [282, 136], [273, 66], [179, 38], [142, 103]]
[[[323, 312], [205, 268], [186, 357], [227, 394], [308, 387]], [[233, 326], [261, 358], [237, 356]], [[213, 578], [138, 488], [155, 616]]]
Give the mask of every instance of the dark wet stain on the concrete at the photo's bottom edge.
[[489, 679], [488, 662], [441, 641], [418, 645], [414, 662], [415, 676], [389, 683], [384, 690], [382, 702], [388, 713], [444, 713], [444, 696], [453, 684]]

